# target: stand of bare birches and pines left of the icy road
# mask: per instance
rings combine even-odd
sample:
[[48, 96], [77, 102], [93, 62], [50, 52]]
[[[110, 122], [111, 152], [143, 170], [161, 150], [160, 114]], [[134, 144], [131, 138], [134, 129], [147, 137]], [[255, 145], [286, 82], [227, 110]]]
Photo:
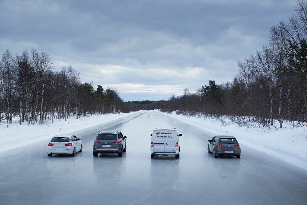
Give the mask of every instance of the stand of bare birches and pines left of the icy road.
[[115, 88], [96, 89], [80, 83], [72, 66], [53, 71], [53, 61], [44, 51], [32, 49], [12, 56], [7, 49], [0, 61], [0, 122], [12, 123], [18, 115], [20, 124], [43, 124], [47, 119], [66, 120], [74, 116], [117, 113], [122, 99]]

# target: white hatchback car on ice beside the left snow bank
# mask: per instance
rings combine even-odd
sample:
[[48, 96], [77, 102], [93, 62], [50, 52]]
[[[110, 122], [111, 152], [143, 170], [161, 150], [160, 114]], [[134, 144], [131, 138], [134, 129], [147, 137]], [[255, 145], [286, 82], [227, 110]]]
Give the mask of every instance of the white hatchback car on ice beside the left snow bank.
[[82, 152], [82, 141], [74, 135], [56, 135], [48, 144], [47, 154], [70, 154], [75, 156], [76, 152]]

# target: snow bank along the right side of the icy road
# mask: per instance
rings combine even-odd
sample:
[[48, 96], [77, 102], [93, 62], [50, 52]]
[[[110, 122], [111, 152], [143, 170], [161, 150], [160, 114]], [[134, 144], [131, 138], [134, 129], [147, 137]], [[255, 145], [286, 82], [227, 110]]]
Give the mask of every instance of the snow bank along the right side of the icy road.
[[161, 113], [213, 132], [215, 135], [235, 136], [239, 144], [273, 155], [307, 170], [307, 126], [293, 128], [291, 123], [284, 122], [282, 129], [240, 128], [239, 125], [232, 123], [230, 120], [227, 121], [228, 125], [225, 126], [213, 118], [204, 119], [196, 116], [177, 115], [176, 112]]

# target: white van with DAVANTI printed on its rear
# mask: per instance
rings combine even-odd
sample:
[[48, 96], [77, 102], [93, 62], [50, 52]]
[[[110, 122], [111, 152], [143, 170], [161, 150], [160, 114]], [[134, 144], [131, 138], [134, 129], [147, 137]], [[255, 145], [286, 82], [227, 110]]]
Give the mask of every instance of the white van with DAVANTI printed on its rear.
[[176, 128], [156, 128], [151, 134], [151, 158], [155, 155], [175, 155], [179, 158], [180, 146]]

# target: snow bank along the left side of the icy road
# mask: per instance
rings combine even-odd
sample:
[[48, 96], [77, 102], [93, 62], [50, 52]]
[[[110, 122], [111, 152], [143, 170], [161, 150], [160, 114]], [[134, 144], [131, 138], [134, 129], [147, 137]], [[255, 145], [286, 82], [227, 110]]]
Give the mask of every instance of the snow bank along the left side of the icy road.
[[136, 112], [120, 113], [120, 114], [105, 114], [92, 117], [81, 117], [75, 119], [70, 117], [66, 121], [61, 119], [54, 120], [54, 123], [47, 122], [46, 124], [27, 125], [26, 122], [22, 125], [18, 124], [18, 119], [15, 118], [12, 124], [6, 122], [0, 123], [0, 151], [17, 148], [26, 144], [31, 144], [45, 139], [51, 139], [56, 134], [72, 134], [79, 130], [90, 128], [111, 120], [116, 120], [126, 117]]

